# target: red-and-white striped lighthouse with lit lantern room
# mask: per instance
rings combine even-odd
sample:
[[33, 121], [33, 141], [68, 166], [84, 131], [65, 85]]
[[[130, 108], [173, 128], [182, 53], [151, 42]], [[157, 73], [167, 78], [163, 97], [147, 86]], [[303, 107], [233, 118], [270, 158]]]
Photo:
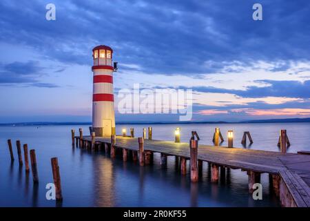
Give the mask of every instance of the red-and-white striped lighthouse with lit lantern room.
[[97, 137], [115, 135], [113, 95], [113, 50], [109, 46], [96, 46], [92, 50], [92, 131]]

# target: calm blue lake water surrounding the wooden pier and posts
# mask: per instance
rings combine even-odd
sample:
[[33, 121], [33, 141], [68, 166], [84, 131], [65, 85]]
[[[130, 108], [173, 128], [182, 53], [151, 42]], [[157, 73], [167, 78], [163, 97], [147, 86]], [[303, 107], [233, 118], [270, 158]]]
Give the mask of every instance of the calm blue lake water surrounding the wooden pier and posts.
[[[141, 136], [148, 125], [116, 125], [135, 128]], [[174, 140], [174, 129], [180, 126], [181, 141], [187, 142], [191, 131], [197, 131], [200, 144], [212, 144], [216, 126], [226, 140], [227, 131], [234, 130], [234, 146], [278, 151], [278, 133], [287, 129], [291, 141], [289, 152], [310, 151], [308, 123], [289, 124], [182, 124], [152, 125], [154, 140]], [[211, 184], [207, 164], [197, 184], [176, 170], [174, 157], [168, 157], [167, 169], [161, 169], [159, 155], [154, 164], [140, 167], [134, 162], [111, 160], [105, 153], [90, 153], [72, 148], [71, 132], [88, 126], [0, 126], [0, 206], [280, 206], [269, 189], [268, 175], [262, 175], [263, 200], [253, 200], [248, 193], [246, 172], [229, 170], [218, 184]], [[243, 131], [250, 131], [254, 144], [242, 147]], [[11, 164], [7, 140], [12, 139], [15, 161]], [[39, 184], [32, 183], [19, 167], [15, 142], [28, 144], [37, 153]], [[226, 145], [226, 142], [222, 144]], [[63, 202], [56, 204], [45, 198], [45, 185], [52, 182], [51, 157], [59, 157]]]

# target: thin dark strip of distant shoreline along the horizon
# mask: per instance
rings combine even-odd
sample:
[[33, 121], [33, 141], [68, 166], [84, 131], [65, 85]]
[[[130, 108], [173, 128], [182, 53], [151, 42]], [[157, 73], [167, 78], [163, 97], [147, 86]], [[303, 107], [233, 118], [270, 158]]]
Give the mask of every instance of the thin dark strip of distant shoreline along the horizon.
[[[310, 118], [258, 119], [241, 122], [116, 122], [123, 124], [264, 124], [264, 123], [310, 123]], [[18, 122], [5, 123], [0, 126], [48, 126], [48, 125], [91, 125], [92, 122]]]

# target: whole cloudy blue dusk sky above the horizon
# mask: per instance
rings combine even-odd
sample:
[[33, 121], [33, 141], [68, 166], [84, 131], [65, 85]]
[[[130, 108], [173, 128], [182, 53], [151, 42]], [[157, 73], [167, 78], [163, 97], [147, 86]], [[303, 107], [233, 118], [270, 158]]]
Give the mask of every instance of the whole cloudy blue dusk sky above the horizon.
[[[192, 89], [193, 120], [310, 117], [309, 0], [1, 0], [0, 122], [89, 122], [99, 44], [119, 64], [115, 93]], [[150, 117], [178, 119], [116, 122]]]

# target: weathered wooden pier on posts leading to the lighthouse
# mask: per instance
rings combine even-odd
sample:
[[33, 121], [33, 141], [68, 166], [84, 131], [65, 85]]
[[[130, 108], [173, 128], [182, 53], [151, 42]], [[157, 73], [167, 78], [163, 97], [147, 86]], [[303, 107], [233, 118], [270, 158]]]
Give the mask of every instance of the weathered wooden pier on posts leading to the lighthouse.
[[[124, 159], [127, 161], [127, 153], [132, 153], [128, 157], [132, 157], [134, 161], [139, 160], [141, 166], [149, 164], [149, 161], [152, 160], [152, 157], [149, 156], [153, 153], [161, 153], [163, 166], [167, 164], [167, 157], [174, 156], [176, 159], [180, 159], [180, 173], [183, 175], [186, 171], [186, 161], [191, 159], [189, 143], [184, 142], [143, 140], [142, 137], [127, 136], [116, 136], [116, 141], [111, 140], [111, 137], [83, 136], [81, 138], [81, 136], [77, 136], [75, 138], [76, 144], [90, 150], [108, 151], [111, 148], [111, 141], [113, 141], [112, 151], [110, 151], [113, 157], [118, 152], [126, 153]], [[143, 143], [141, 143], [141, 139]], [[92, 146], [94, 147], [92, 148]], [[211, 167], [211, 182], [218, 182], [218, 171], [223, 171], [225, 168], [247, 171], [250, 193], [253, 192], [253, 184], [260, 181], [260, 174], [269, 173], [269, 182], [280, 198], [282, 206], [310, 206], [310, 155], [199, 144], [198, 156], [195, 156], [194, 159], [195, 162], [190, 164], [192, 182], [197, 181], [197, 178], [193, 178], [192, 174], [196, 176], [197, 171], [195, 170], [201, 171], [203, 165], [201, 162], [203, 161], [208, 162]], [[198, 166], [195, 166], [197, 162]]]

